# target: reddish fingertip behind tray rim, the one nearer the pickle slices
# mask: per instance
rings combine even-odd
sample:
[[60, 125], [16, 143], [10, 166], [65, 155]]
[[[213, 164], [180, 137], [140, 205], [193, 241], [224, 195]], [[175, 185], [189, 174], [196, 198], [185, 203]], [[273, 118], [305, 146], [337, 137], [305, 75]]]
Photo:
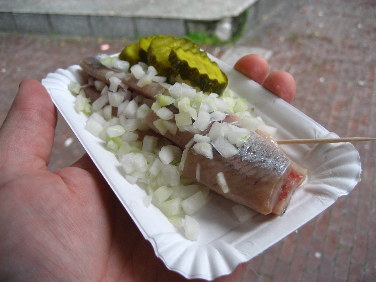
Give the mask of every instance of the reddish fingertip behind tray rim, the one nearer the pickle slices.
[[256, 54], [240, 58], [235, 63], [234, 68], [258, 84], [264, 82], [269, 71], [268, 62], [262, 56]]

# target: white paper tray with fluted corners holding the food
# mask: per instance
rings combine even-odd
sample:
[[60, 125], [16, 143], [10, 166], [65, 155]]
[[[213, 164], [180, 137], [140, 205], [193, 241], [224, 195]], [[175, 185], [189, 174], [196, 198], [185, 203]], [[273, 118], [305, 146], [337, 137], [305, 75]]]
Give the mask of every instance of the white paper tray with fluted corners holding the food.
[[[337, 137], [229, 65], [215, 60], [229, 77], [230, 89], [246, 98], [267, 124], [278, 128], [277, 139]], [[85, 80], [77, 65], [48, 74], [42, 84], [139, 230], [152, 243], [156, 255], [169, 269], [187, 278], [212, 280], [231, 273], [241, 262], [249, 261], [320, 214], [339, 196], [347, 195], [359, 181], [359, 154], [350, 143], [284, 145], [287, 155], [308, 168], [309, 174], [283, 216], [251, 210], [252, 219], [240, 224], [230, 210], [234, 203], [214, 195], [194, 216], [200, 223], [199, 240], [186, 240], [158, 208], [144, 207], [141, 197], [146, 192], [124, 179], [115, 155], [84, 129], [87, 117], [74, 110], [75, 97], [68, 91], [71, 80]]]

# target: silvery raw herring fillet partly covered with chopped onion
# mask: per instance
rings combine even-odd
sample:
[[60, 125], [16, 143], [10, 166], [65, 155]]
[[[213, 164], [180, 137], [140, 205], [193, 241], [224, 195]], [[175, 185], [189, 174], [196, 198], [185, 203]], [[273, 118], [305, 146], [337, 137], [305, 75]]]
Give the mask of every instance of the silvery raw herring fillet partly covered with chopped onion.
[[[80, 67], [96, 79], [109, 84], [105, 75], [108, 71], [119, 72], [103, 66], [98, 56], [84, 59]], [[140, 88], [138, 80], [130, 73], [126, 73], [122, 82], [129, 89], [142, 94], [148, 99], [156, 99], [158, 94], [167, 91], [158, 83], [152, 82]], [[229, 115], [229, 119], [237, 117]], [[155, 132], [160, 133], [153, 125], [158, 118], [150, 112], [145, 123]], [[171, 120], [171, 121], [174, 121]], [[205, 135], [206, 132], [203, 132]], [[184, 149], [185, 144], [193, 138], [193, 133], [177, 131], [176, 135], [167, 132], [163, 135], [173, 143]], [[272, 141], [272, 142], [271, 142]], [[283, 214], [290, 203], [291, 196], [303, 182], [307, 171], [305, 168], [291, 161], [274, 140], [263, 132], [255, 132], [249, 139], [238, 147], [239, 153], [231, 158], [223, 158], [213, 150], [213, 159], [196, 155], [192, 150], [188, 152], [183, 169], [183, 175], [196, 179], [197, 164], [201, 173], [199, 182], [211, 190], [223, 195], [227, 199], [248, 206], [261, 214]], [[224, 193], [216, 181], [217, 173], [222, 172], [229, 185], [229, 192]]]

